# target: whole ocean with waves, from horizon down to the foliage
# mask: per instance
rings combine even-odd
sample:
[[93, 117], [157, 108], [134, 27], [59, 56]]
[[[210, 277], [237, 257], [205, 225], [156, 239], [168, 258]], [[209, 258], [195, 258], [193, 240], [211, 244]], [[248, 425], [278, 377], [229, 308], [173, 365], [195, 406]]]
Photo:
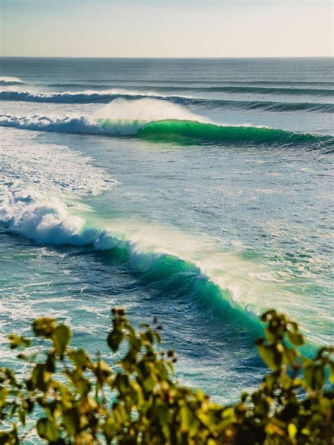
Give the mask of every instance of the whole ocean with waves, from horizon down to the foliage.
[[333, 341], [333, 59], [0, 65], [1, 363], [39, 315], [113, 361], [122, 306], [229, 403], [264, 375], [267, 308], [310, 355]]

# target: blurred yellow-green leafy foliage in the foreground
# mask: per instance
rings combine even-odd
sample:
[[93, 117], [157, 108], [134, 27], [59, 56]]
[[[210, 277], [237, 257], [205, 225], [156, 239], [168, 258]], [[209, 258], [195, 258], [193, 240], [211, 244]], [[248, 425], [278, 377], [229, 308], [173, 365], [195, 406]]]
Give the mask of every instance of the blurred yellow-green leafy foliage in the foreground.
[[[270, 372], [253, 394], [220, 406], [175, 380], [175, 354], [161, 351], [156, 320], [135, 330], [113, 309], [107, 343], [125, 353], [111, 369], [99, 353], [93, 360], [71, 348], [66, 325], [39, 318], [32, 330], [49, 344], [47, 353], [18, 354], [30, 367], [25, 377], [0, 369], [0, 444], [25, 443], [31, 426], [50, 444], [333, 443], [333, 349], [321, 348], [311, 361], [296, 348], [304, 344], [297, 323], [276, 311], [261, 320], [266, 338], [257, 346]], [[31, 344], [14, 334], [9, 341], [12, 349]]]

